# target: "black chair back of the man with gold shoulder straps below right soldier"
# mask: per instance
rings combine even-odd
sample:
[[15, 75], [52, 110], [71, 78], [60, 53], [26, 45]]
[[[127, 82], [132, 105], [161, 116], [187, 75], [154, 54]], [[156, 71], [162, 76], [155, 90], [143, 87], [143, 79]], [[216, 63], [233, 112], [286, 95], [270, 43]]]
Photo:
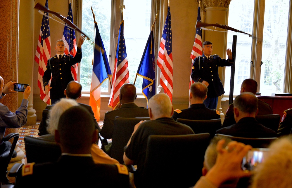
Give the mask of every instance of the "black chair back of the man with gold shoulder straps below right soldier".
[[177, 121], [190, 126], [195, 134], [210, 133], [210, 137], [214, 137], [216, 130], [222, 128], [221, 119], [210, 120], [190, 120], [177, 118]]

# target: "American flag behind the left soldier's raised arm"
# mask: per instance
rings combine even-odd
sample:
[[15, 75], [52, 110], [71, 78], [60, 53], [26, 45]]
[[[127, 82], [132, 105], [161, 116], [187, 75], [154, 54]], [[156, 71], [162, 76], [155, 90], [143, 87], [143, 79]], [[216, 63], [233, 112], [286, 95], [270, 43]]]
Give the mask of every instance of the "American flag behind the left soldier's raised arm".
[[[68, 11], [67, 19], [73, 23], [73, 14], [72, 14], [71, 3], [69, 4], [69, 11]], [[71, 55], [75, 56], [76, 52], [77, 52], [75, 31], [74, 31], [74, 29], [67, 27], [67, 24], [65, 24], [65, 27], [64, 27], [63, 40], [65, 41], [65, 47], [66, 47], [65, 54], [71, 54]], [[75, 68], [71, 67], [71, 73], [72, 73], [72, 77], [74, 78], [74, 80], [77, 80], [77, 72], [78, 72], [78, 63], [75, 64]]]

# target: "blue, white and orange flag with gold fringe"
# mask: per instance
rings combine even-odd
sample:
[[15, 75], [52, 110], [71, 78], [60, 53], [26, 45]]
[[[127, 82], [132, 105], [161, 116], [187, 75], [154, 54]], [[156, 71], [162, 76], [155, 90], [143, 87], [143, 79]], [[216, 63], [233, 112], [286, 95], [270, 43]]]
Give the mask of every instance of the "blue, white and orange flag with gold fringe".
[[[94, 25], [96, 29], [95, 44], [101, 46], [104, 50], [105, 48], [103, 46], [97, 23], [94, 22]], [[97, 121], [100, 119], [100, 86], [109, 76], [111, 76], [111, 74], [106, 51], [102, 54], [100, 48], [94, 48], [89, 105], [91, 106]]]

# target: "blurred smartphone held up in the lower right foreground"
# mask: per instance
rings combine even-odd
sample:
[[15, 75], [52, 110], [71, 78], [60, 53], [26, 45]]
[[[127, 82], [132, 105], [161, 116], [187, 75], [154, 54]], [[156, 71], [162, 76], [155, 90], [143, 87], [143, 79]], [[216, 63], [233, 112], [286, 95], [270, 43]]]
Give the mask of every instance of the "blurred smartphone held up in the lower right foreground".
[[243, 170], [254, 170], [254, 168], [262, 163], [267, 154], [269, 153], [268, 148], [253, 148], [248, 151], [245, 157], [242, 159], [242, 169]]

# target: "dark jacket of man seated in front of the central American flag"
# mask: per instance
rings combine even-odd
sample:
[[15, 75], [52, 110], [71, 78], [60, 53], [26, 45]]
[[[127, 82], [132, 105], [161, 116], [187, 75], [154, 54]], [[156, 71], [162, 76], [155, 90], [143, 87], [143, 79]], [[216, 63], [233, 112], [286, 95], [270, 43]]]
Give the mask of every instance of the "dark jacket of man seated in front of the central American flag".
[[114, 120], [115, 117], [149, 117], [148, 109], [138, 107], [135, 103], [125, 103], [119, 109], [106, 112], [104, 115], [103, 127], [100, 131], [102, 137], [106, 139], [113, 138]]

